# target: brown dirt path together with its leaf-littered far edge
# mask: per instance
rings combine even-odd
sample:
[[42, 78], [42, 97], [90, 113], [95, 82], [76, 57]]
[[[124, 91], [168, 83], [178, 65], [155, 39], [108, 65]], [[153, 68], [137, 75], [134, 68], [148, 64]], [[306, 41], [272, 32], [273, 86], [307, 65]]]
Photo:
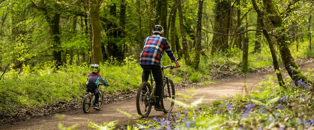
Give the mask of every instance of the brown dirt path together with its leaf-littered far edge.
[[[314, 59], [306, 58], [298, 60], [301, 70], [306, 71], [307, 68], [314, 68]], [[202, 85], [200, 83], [188, 83], [176, 84], [176, 93], [191, 94], [187, 90], [195, 88], [193, 90], [194, 96], [188, 100], [187, 103], [191, 103], [203, 95], [203, 104], [210, 104], [215, 100], [222, 98], [228, 98], [235, 96], [236, 94], [249, 94], [253, 91], [254, 85], [259, 86], [259, 81], [263, 77], [267, 78], [268, 75], [276, 77], [272, 67], [265, 69], [253, 70], [251, 74], [234, 74], [234, 73], [215, 73], [212, 79], [219, 79], [216, 83], [210, 83], [208, 85]], [[289, 76], [287, 73], [283, 73], [284, 76]], [[206, 80], [206, 79], [203, 79]], [[245, 86], [248, 86], [245, 89]], [[65, 115], [62, 119], [62, 123], [65, 127], [70, 127], [75, 123], [79, 125], [76, 127], [79, 130], [89, 129], [85, 124], [89, 124], [89, 121], [93, 121], [96, 124], [109, 123], [111, 121], [119, 120], [118, 127], [126, 126], [127, 124], [133, 124], [136, 120], [152, 119], [154, 117], [165, 117], [167, 114], [163, 112], [157, 112], [152, 110], [147, 118], [127, 118], [122, 113], [118, 112], [120, 109], [124, 112], [132, 115], [137, 115], [135, 92], [128, 94], [111, 94], [105, 95], [105, 105], [100, 111], [91, 110], [89, 113], [84, 113], [81, 107], [81, 103], [59, 103], [58, 105], [47, 106], [40, 110], [33, 110], [26, 112], [27, 114], [21, 114], [21, 118], [7, 118], [0, 124], [0, 129], [57, 129], [59, 118], [55, 116], [55, 113]], [[171, 113], [179, 112], [175, 104]], [[27, 116], [28, 115], [28, 116]]]

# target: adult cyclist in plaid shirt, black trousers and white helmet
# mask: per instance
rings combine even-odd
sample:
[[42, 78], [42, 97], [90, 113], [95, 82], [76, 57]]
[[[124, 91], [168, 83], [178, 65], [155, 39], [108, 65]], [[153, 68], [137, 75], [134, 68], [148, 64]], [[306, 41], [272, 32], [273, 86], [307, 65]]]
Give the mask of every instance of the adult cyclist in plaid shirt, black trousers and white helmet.
[[[160, 96], [162, 93], [163, 76], [161, 72], [160, 61], [164, 51], [168, 54], [171, 61], [175, 63], [174, 68], [180, 68], [178, 59], [174, 56], [169, 43], [165, 37], [161, 37], [164, 33], [164, 28], [160, 25], [153, 27], [153, 35], [146, 37], [143, 43], [143, 50], [140, 54], [139, 63], [143, 68], [142, 82], [147, 82], [149, 79], [150, 70], [153, 74], [156, 83], [156, 104], [155, 110], [163, 111], [164, 109], [160, 106]], [[147, 90], [142, 90], [145, 93]]]

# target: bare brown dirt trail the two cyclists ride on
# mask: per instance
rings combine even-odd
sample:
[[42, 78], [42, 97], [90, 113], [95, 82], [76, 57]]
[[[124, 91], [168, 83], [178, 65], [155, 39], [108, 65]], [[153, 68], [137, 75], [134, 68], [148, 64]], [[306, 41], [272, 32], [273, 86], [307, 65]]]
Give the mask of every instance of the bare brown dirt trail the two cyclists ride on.
[[[301, 65], [300, 68], [302, 70], [306, 70], [306, 68], [314, 68], [314, 62], [307, 63]], [[223, 80], [218, 83], [212, 83], [209, 85], [200, 85], [194, 86], [195, 92], [197, 93], [192, 100], [188, 102], [192, 102], [193, 100], [199, 99], [203, 95], [205, 98], [203, 99], [203, 103], [211, 103], [214, 100], [221, 99], [223, 97], [234, 96], [236, 94], [245, 94], [244, 85], [249, 86], [248, 91], [250, 91], [251, 87], [255, 85], [259, 85], [257, 82], [263, 79], [263, 77], [267, 77], [267, 75], [273, 75], [274, 73], [263, 73], [263, 74], [254, 74], [247, 75], [245, 77], [240, 78], [232, 78], [228, 80]], [[287, 74], [285, 74], [287, 76]], [[176, 93], [189, 94], [185, 89], [177, 90]], [[178, 110], [176, 109], [177, 105], [175, 104], [175, 108], [171, 113], [176, 113]], [[62, 123], [64, 126], [69, 127], [75, 123], [81, 124], [76, 128], [79, 130], [88, 129], [87, 125], [88, 120], [94, 121], [97, 124], [103, 124], [104, 122], [109, 123], [111, 121], [119, 120], [118, 125], [133, 123], [135, 120], [139, 118], [127, 118], [123, 114], [119, 113], [116, 109], [121, 109], [127, 113], [132, 115], [137, 115], [136, 111], [136, 103], [135, 98], [127, 101], [116, 102], [104, 105], [100, 111], [91, 110], [89, 113], [84, 113], [82, 109], [78, 109], [75, 111], [60, 113], [65, 115]], [[150, 119], [153, 117], [161, 117], [166, 116], [163, 112], [157, 112], [152, 110], [149, 117], [145, 119]], [[34, 129], [42, 129], [42, 130], [55, 130], [57, 129], [59, 123], [59, 119], [55, 116], [46, 116], [42, 118], [34, 118], [26, 121], [17, 122], [16, 124], [6, 124], [0, 126], [0, 129], [6, 130], [17, 130], [17, 129], [25, 129], [25, 130], [34, 130]]]

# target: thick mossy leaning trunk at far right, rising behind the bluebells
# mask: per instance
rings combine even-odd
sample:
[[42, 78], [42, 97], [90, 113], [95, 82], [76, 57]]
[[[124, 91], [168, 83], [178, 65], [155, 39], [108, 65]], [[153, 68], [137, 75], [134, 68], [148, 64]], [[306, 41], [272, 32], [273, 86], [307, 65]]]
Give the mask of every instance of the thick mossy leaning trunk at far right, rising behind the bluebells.
[[279, 12], [277, 11], [277, 8], [273, 4], [271, 0], [263, 0], [264, 8], [266, 9], [267, 13], [270, 15], [267, 15], [268, 18], [272, 21], [274, 27], [281, 28], [281, 30], [278, 30], [277, 32], [277, 44], [279, 48], [279, 52], [281, 55], [281, 59], [284, 63], [284, 67], [286, 68], [289, 76], [295, 81], [295, 84], [297, 85], [297, 81], [302, 79], [303, 82], [307, 83], [308, 80], [306, 77], [303, 76], [303, 74], [300, 71], [300, 68], [295, 63], [295, 60], [291, 56], [289, 47], [289, 42], [291, 41], [289, 37], [286, 37], [285, 28], [283, 27], [283, 20]]

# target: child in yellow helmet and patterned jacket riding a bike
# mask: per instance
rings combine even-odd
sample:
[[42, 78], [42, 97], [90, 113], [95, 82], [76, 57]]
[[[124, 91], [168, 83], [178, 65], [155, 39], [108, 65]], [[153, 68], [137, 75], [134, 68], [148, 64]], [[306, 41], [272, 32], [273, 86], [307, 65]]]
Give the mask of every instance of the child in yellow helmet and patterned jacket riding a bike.
[[99, 103], [99, 84], [104, 83], [106, 86], [108, 86], [108, 83], [105, 79], [103, 79], [100, 74], [100, 66], [98, 64], [93, 64], [90, 66], [90, 73], [87, 77], [86, 82], [86, 92], [94, 93], [95, 95], [95, 104], [94, 109], [100, 110], [100, 107], [98, 106]]

